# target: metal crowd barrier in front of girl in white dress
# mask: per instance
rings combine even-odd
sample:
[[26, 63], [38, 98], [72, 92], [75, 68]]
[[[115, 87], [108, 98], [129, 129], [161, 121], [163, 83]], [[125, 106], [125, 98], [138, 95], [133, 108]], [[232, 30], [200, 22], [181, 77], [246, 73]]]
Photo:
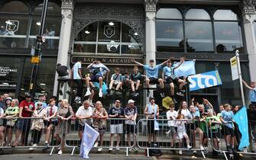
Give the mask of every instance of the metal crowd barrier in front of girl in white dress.
[[[146, 149], [147, 151], [147, 157], [149, 157], [149, 149], [167, 149], [171, 151], [200, 151], [203, 155], [203, 158], [206, 158], [203, 150], [199, 148], [199, 140], [198, 135], [194, 133], [193, 126], [195, 125], [197, 120], [171, 120], [174, 123], [177, 123], [177, 125], [182, 125], [184, 123], [186, 134], [190, 139], [189, 145], [193, 146], [191, 149], [187, 148], [186, 140], [184, 138], [181, 139], [181, 142], [179, 145], [177, 145], [177, 142], [179, 140], [172, 139], [173, 137], [170, 136], [168, 131], [170, 130], [168, 127], [168, 121], [167, 119], [156, 119], [156, 121], [159, 124], [159, 130], [155, 130], [152, 128], [154, 126], [154, 119], [141, 119], [138, 120], [138, 147], [140, 149]], [[153, 123], [153, 124], [152, 124]], [[155, 127], [155, 126], [154, 126]], [[207, 126], [206, 126], [207, 127]], [[177, 132], [177, 129], [176, 129]], [[155, 139], [153, 138], [153, 145], [151, 145], [152, 141], [149, 142], [149, 133], [151, 135], [155, 135]], [[179, 134], [177, 132], [177, 134]], [[207, 134], [207, 133], [206, 133]], [[195, 137], [193, 139], [193, 136]], [[171, 145], [173, 140], [173, 146]], [[185, 142], [185, 143], [184, 143]], [[185, 145], [184, 145], [185, 144]]]

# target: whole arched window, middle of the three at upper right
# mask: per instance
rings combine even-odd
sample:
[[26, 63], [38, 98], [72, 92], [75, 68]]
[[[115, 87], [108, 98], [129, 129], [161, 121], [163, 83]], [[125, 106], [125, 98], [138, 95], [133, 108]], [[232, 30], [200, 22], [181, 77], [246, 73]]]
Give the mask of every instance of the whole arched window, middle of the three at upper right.
[[204, 9], [190, 9], [185, 16], [186, 51], [213, 53], [212, 22]]

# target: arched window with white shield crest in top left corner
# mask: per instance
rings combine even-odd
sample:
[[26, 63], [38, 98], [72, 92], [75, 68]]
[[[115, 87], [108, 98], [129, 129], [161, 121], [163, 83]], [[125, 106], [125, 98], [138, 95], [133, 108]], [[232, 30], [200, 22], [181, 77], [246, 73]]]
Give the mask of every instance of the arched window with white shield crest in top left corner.
[[0, 27], [0, 48], [24, 48], [28, 30], [28, 6], [18, 1], [3, 5], [0, 8]]

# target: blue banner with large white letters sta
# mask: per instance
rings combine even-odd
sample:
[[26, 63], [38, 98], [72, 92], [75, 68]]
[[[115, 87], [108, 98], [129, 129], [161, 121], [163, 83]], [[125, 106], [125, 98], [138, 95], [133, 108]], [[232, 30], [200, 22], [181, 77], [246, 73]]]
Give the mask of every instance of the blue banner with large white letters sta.
[[222, 79], [217, 70], [198, 75], [190, 75], [188, 80], [190, 81], [190, 91], [222, 85]]

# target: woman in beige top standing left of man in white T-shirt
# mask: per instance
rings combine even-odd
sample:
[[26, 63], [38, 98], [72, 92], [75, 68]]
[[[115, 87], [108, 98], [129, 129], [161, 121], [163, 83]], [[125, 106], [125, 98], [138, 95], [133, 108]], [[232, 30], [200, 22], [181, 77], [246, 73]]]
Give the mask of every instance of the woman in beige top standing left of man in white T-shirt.
[[[59, 147], [58, 155], [63, 153], [63, 148], [65, 146], [65, 137], [66, 134], [70, 132], [70, 120], [74, 116], [74, 112], [70, 104], [66, 99], [63, 99], [60, 105], [60, 108], [57, 111], [57, 117], [59, 118], [59, 123], [56, 127], [56, 132], [54, 137], [57, 139], [57, 142], [61, 144]], [[63, 139], [60, 138], [62, 134]]]

